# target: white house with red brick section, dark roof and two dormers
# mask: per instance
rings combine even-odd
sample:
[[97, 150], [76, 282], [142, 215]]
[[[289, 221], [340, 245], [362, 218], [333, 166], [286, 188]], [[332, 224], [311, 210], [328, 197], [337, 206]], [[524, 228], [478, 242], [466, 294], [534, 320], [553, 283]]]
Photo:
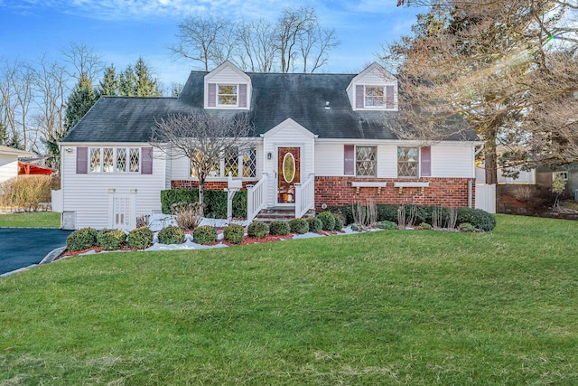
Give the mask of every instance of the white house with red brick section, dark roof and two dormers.
[[473, 206], [482, 142], [473, 132], [433, 144], [398, 139], [387, 128], [397, 93], [377, 63], [359, 74], [279, 74], [226, 61], [192, 71], [179, 98], [103, 97], [61, 141], [63, 226], [130, 229], [161, 210], [162, 190], [198, 186], [190, 160], [149, 144], [155, 121], [181, 112], [247, 113], [254, 146], [225, 155], [207, 188], [226, 188], [229, 172], [242, 179], [249, 219], [270, 207], [301, 217], [368, 200]]

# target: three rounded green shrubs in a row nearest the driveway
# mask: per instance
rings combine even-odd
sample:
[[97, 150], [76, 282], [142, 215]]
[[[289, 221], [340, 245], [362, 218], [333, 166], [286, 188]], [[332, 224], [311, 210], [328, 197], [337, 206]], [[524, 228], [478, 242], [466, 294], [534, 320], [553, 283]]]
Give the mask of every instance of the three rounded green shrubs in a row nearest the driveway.
[[140, 227], [130, 231], [127, 236], [125, 231], [120, 230], [96, 231], [93, 228], [83, 228], [70, 233], [66, 239], [66, 248], [73, 252], [93, 247], [116, 250], [125, 243], [129, 248], [145, 249], [153, 243], [153, 231]]

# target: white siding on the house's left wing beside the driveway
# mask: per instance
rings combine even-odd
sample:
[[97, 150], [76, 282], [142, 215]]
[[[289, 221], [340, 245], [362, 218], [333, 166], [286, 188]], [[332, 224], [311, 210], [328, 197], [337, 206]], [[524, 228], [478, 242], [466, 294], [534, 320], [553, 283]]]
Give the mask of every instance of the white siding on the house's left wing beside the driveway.
[[[99, 145], [119, 147], [118, 144]], [[147, 144], [131, 144], [147, 147]], [[76, 212], [75, 228], [109, 226], [109, 199], [111, 189], [116, 194], [136, 190], [136, 216], [151, 214], [161, 209], [161, 190], [165, 188], [166, 162], [162, 152], [154, 149], [153, 174], [89, 173], [76, 174], [76, 146], [66, 146], [72, 152], [62, 154], [62, 193], [64, 212]], [[95, 145], [96, 147], [96, 145]]]

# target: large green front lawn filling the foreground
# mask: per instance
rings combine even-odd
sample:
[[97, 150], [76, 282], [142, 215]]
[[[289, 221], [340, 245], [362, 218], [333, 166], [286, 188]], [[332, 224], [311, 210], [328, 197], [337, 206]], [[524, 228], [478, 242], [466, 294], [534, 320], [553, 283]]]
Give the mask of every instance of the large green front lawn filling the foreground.
[[578, 222], [102, 253], [0, 279], [0, 384], [578, 383]]

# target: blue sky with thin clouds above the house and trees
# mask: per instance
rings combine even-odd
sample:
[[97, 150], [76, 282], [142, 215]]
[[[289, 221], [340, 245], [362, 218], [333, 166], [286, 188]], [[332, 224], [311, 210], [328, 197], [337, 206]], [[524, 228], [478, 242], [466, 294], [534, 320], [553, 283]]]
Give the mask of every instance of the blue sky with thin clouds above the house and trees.
[[275, 21], [287, 5], [312, 6], [323, 27], [335, 28], [341, 44], [325, 72], [359, 72], [376, 60], [380, 44], [409, 31], [418, 12], [396, 7], [396, 0], [0, 0], [0, 60], [56, 58], [76, 42], [117, 70], [143, 56], [164, 85], [184, 83], [197, 69], [173, 60], [167, 46], [177, 42], [177, 24], [186, 16]]

